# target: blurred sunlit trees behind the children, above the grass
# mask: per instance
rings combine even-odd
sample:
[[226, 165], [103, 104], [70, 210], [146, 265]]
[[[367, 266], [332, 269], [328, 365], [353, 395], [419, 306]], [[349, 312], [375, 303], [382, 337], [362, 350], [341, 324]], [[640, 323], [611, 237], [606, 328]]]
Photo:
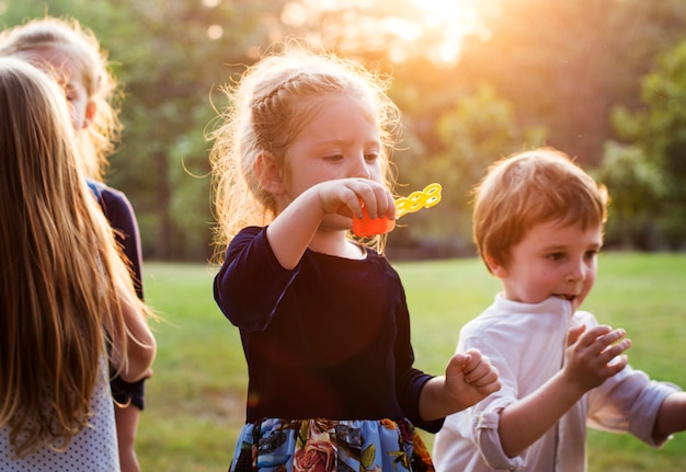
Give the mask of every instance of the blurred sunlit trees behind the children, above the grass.
[[538, 146], [607, 185], [608, 247], [686, 249], [683, 0], [0, 0], [1, 27], [44, 14], [93, 30], [125, 87], [106, 180], [136, 209], [146, 260], [210, 256], [219, 89], [287, 36], [392, 76], [398, 192], [444, 188], [391, 233], [397, 258], [473, 255], [470, 188]]

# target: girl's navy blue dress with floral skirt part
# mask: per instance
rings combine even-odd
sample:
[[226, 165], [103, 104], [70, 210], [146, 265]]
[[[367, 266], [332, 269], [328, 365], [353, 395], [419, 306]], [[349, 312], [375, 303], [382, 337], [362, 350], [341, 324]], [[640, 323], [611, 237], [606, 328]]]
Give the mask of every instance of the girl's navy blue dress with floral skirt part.
[[264, 229], [250, 227], [231, 241], [214, 291], [250, 376], [232, 471], [307, 469], [313, 458], [332, 472], [433, 470], [414, 426], [435, 433], [443, 421], [420, 417], [432, 376], [413, 368], [404, 289], [386, 257], [308, 250], [286, 270]]

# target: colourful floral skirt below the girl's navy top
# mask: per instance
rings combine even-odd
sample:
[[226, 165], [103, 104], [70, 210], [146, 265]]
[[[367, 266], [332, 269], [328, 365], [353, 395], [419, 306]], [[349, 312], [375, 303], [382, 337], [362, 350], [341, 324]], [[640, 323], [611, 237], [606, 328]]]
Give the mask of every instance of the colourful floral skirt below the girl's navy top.
[[263, 419], [243, 426], [229, 472], [434, 472], [408, 421]]

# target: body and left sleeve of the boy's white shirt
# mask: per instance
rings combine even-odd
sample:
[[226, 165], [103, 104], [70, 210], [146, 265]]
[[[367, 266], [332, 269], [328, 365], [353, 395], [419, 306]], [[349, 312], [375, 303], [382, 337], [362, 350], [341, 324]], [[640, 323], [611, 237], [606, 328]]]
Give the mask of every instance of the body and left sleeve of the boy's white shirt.
[[554, 431], [521, 456], [507, 457], [500, 440], [500, 413], [560, 369], [571, 315], [567, 300], [550, 298], [524, 304], [499, 295], [489, 309], [462, 326], [457, 352], [479, 349], [498, 368], [502, 387], [446, 418], [434, 438], [437, 472], [545, 470], [544, 464], [554, 461]]

